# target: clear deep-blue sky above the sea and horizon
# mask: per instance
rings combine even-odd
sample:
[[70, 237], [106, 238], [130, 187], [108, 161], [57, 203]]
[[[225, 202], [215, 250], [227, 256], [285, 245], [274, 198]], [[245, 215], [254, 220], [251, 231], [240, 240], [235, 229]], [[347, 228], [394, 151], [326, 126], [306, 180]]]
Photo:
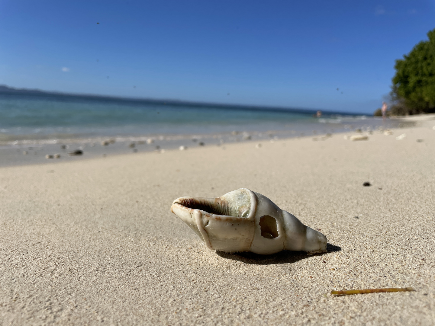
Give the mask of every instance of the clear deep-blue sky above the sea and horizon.
[[371, 113], [434, 13], [435, 0], [0, 0], [0, 84]]

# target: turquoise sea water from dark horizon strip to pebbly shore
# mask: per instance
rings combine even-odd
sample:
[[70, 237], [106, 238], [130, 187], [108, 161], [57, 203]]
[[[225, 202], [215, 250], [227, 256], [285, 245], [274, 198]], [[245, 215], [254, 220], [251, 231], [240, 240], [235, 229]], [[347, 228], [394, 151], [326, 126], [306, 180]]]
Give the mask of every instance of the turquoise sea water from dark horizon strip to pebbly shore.
[[326, 115], [315, 110], [285, 111], [266, 107], [213, 106], [78, 96], [0, 94], [0, 141], [62, 140], [102, 136], [225, 134], [240, 132], [319, 133], [355, 126], [375, 126], [364, 116]]

